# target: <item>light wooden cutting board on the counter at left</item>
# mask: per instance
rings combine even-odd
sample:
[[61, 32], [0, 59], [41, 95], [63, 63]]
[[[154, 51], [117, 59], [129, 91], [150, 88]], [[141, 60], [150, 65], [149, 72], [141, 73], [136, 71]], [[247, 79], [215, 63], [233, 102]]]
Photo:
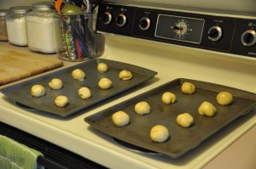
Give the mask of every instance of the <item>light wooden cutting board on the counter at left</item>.
[[61, 67], [60, 59], [43, 54], [22, 53], [14, 49], [0, 50], [0, 86], [16, 82], [47, 70]]

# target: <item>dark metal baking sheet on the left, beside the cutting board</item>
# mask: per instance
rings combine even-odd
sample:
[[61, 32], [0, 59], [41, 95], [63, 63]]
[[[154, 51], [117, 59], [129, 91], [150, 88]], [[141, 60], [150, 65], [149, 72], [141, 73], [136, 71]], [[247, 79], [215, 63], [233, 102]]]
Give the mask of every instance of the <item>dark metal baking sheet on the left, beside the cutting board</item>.
[[[96, 70], [97, 64], [101, 62], [108, 65], [108, 72], [100, 73]], [[75, 69], [84, 70], [86, 74], [84, 81], [73, 79], [72, 71]], [[130, 70], [133, 75], [132, 79], [129, 81], [120, 80], [120, 70]], [[10, 87], [4, 87], [1, 89], [1, 92], [20, 104], [66, 117], [67, 115], [72, 115], [79, 110], [97, 104], [131, 87], [146, 82], [156, 74], [157, 72], [154, 70], [148, 70], [136, 65], [129, 65], [109, 59], [91, 59], [79, 65], [73, 65], [67, 69], [55, 71], [49, 75], [40, 76], [26, 82], [20, 82]], [[105, 90], [98, 87], [98, 82], [102, 77], [108, 77], [113, 82], [113, 87]], [[52, 90], [49, 88], [48, 83], [52, 78], [61, 79], [63, 87], [60, 90]], [[34, 84], [41, 84], [45, 87], [46, 95], [44, 97], [32, 97], [31, 87]], [[78, 95], [80, 87], [89, 87], [92, 97], [85, 100], [80, 99]], [[66, 107], [59, 108], [55, 106], [54, 100], [58, 95], [67, 96], [69, 104], [67, 104]]]

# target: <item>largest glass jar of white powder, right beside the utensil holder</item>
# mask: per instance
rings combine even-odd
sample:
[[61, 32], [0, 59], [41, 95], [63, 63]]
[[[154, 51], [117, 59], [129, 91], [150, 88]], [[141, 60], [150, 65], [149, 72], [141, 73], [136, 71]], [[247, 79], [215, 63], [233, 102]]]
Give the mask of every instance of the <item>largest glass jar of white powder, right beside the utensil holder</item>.
[[28, 48], [32, 52], [55, 53], [55, 13], [50, 2], [32, 3], [32, 11], [26, 14]]

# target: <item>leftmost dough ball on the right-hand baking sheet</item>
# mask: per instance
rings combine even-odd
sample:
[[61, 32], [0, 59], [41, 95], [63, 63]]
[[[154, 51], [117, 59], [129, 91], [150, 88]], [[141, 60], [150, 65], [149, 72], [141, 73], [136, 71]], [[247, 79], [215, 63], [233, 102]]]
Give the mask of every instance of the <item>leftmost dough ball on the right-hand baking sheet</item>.
[[117, 127], [123, 127], [130, 122], [130, 116], [125, 111], [117, 111], [112, 115], [113, 124]]

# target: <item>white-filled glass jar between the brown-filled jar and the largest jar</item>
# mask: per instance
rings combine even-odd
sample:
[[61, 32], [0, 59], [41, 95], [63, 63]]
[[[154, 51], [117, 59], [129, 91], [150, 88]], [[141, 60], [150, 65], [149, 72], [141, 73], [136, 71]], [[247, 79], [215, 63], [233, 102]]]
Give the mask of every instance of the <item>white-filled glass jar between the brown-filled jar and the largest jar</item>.
[[9, 14], [6, 16], [6, 26], [10, 44], [27, 46], [25, 16], [29, 11], [31, 11], [29, 6], [9, 8]]

